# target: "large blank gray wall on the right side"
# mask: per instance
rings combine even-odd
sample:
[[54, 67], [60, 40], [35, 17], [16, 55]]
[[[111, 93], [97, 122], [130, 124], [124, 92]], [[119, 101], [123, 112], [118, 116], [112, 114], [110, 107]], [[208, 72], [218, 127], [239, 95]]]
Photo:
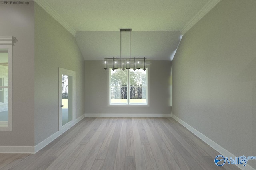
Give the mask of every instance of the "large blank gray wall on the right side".
[[256, 155], [255, 7], [220, 1], [173, 60], [173, 114], [236, 156]]

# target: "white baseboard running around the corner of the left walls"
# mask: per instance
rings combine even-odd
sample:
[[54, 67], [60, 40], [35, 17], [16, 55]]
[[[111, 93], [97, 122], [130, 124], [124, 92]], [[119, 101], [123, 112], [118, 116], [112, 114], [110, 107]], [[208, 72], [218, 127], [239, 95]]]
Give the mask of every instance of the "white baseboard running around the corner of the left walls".
[[60, 131], [57, 131], [56, 133], [52, 134], [50, 137], [46, 138], [44, 141], [38, 143], [36, 146], [0, 146], [0, 153], [29, 153], [29, 154], [35, 154], [42, 148], [44, 148], [46, 145], [51, 143], [54, 139], [62, 135], [64, 132], [66, 132], [68, 129], [70, 129], [72, 126], [76, 125], [79, 121], [81, 121], [84, 118], [85, 115], [80, 116], [78, 119], [73, 121], [72, 123], [68, 124], [66, 127], [61, 129]]

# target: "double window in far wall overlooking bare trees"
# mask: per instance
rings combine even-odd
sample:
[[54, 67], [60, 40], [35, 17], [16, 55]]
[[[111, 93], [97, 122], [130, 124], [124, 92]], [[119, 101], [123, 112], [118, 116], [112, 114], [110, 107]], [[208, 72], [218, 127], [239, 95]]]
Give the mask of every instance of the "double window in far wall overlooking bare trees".
[[110, 70], [110, 105], [147, 105], [148, 70]]

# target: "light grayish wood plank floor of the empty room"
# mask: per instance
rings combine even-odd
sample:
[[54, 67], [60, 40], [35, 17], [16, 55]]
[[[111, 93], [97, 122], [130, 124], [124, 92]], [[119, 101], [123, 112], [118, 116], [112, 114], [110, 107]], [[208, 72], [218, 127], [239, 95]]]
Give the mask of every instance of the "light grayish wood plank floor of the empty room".
[[0, 170], [238, 170], [170, 118], [85, 118], [36, 154], [0, 154]]

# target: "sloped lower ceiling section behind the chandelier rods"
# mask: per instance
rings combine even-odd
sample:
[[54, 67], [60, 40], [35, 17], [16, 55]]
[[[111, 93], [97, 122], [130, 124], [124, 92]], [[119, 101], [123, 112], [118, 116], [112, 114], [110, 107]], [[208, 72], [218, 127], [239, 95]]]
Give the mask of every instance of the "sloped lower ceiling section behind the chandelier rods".
[[[122, 32], [122, 57], [130, 55], [129, 33]], [[171, 60], [180, 42], [180, 31], [132, 31], [131, 57]], [[79, 31], [76, 41], [86, 60], [120, 57], [120, 32]]]

